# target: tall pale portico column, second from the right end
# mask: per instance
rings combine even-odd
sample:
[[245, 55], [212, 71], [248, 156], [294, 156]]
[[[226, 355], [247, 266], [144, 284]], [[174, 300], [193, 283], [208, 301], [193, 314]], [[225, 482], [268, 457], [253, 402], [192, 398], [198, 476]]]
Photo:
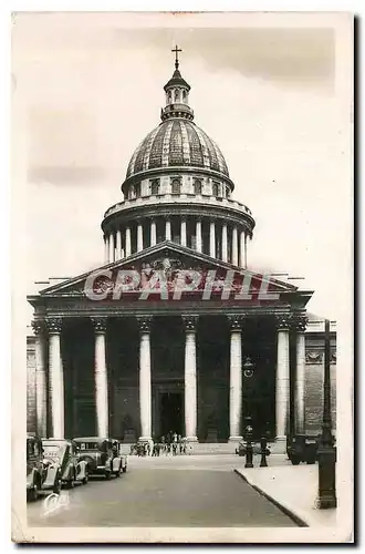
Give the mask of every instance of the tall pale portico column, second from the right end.
[[277, 440], [284, 441], [289, 425], [290, 368], [289, 368], [289, 329], [290, 317], [281, 316], [278, 321], [278, 360], [277, 360]]

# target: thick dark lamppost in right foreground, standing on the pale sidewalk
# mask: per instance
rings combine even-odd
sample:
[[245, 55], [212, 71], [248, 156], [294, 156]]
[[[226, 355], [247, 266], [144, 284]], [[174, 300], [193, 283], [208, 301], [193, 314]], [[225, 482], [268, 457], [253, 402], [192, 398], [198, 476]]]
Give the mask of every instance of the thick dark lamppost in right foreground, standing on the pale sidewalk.
[[319, 445], [319, 495], [320, 509], [336, 507], [336, 451], [333, 445], [331, 418], [331, 336], [330, 321], [324, 324], [324, 380], [323, 380], [323, 421]]

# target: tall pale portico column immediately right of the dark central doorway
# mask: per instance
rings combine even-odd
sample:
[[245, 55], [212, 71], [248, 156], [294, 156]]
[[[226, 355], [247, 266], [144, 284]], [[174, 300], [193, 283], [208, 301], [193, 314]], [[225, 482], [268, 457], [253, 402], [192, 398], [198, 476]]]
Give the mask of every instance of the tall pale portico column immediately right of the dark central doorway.
[[182, 316], [185, 325], [185, 435], [197, 441], [197, 316]]

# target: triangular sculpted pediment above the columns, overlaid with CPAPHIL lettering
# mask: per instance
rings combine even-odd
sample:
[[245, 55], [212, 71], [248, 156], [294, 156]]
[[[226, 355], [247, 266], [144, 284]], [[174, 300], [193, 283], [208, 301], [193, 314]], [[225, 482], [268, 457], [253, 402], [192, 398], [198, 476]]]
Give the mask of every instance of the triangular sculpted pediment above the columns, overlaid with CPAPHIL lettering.
[[[144, 249], [127, 258], [95, 268], [72, 279], [41, 290], [41, 297], [93, 297], [117, 298], [116, 289], [129, 298], [144, 293], [145, 297], [177, 294], [211, 296], [225, 293], [225, 298], [259, 297], [291, 293], [298, 287], [231, 264], [197, 253], [191, 248], [165, 242]], [[208, 291], [208, 293], [207, 293]], [[240, 296], [241, 295], [241, 296]], [[242, 296], [243, 295], [243, 296]], [[121, 299], [118, 297], [118, 299]]]

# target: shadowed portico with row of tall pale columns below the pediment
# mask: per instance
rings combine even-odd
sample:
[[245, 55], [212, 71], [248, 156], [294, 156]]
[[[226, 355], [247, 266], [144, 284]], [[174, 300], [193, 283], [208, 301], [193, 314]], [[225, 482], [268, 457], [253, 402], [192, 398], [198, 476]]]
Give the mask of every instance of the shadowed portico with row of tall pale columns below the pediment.
[[[35, 319], [36, 348], [46, 352], [36, 368], [43, 434], [148, 440], [166, 430], [170, 418], [191, 442], [211, 437], [236, 442], [247, 416], [258, 435], [269, 431], [278, 440], [290, 421], [298, 429], [303, 424], [305, 316], [278, 315], [278, 308], [258, 315], [227, 307], [222, 314], [209, 302], [195, 310], [157, 306], [142, 312], [144, 306], [135, 314], [105, 302], [88, 314], [87, 304], [65, 305], [54, 316], [50, 307]], [[248, 357], [253, 375], [244, 371]]]

